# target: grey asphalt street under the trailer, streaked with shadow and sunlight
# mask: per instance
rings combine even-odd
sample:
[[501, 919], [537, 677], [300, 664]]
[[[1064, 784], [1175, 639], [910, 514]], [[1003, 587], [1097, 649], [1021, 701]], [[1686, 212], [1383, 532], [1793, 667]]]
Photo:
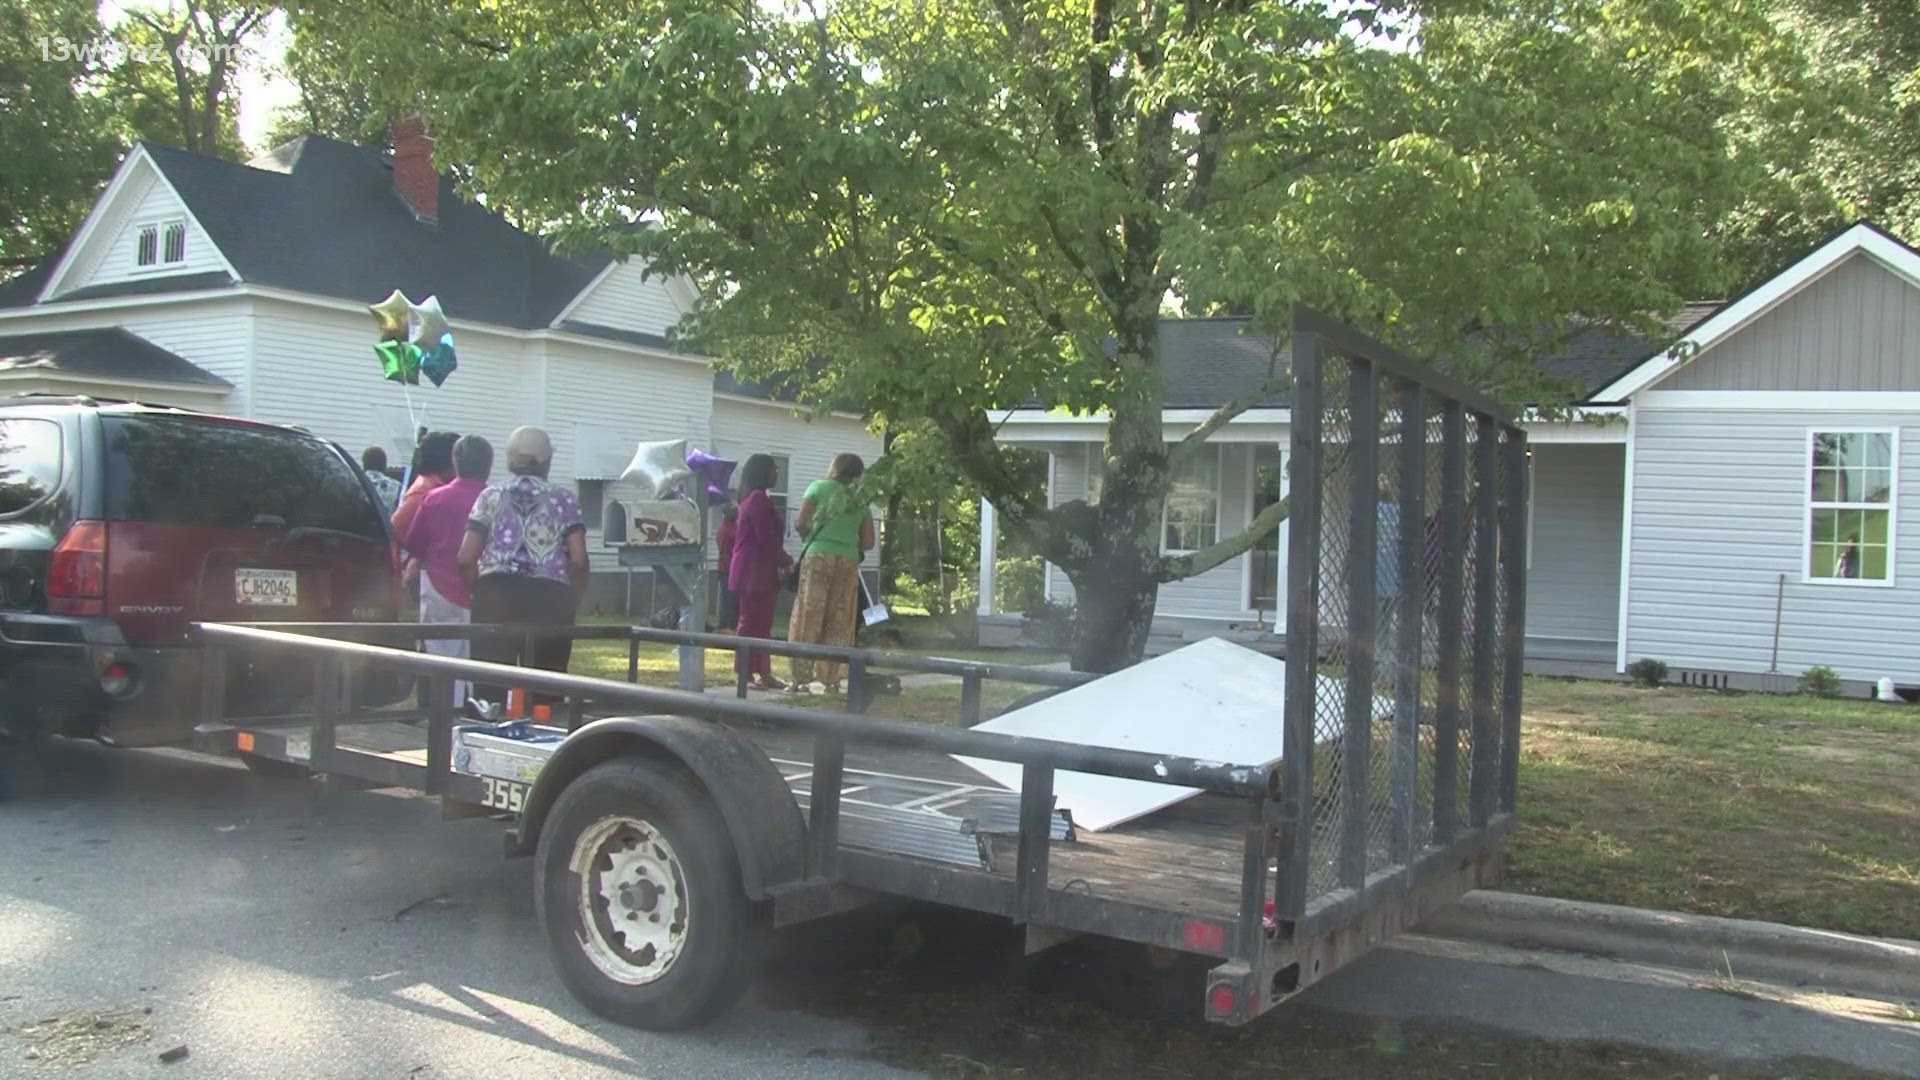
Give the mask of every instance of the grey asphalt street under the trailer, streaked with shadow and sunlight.
[[[0, 805], [0, 915], [25, 913], [15, 926], [25, 936], [0, 944], [0, 972], [42, 972], [56, 980], [44, 992], [73, 999], [111, 999], [127, 980], [167, 994], [180, 970], [202, 970], [196, 986], [211, 995], [271, 992], [309, 1024], [401, 1034], [424, 1024], [440, 1032], [436, 1045], [451, 1026], [486, 1036], [476, 1045], [605, 1070], [645, 1063], [649, 1076], [879, 1076], [891, 1065], [1027, 1080], [1202, 1068], [1229, 1080], [1837, 1080], [1889, 1074], [1885, 1061], [1920, 1063], [1920, 1026], [1396, 951], [1229, 1030], [1198, 1019], [1204, 961], [1094, 940], [1023, 957], [1020, 928], [1004, 920], [910, 903], [768, 934], [764, 976], [739, 1013], [657, 1036], [566, 997], [534, 920], [532, 865], [501, 859], [495, 822], [442, 822], [422, 798], [326, 792], [198, 755], [84, 744], [56, 746], [17, 780], [15, 801]], [[33, 930], [33, 919], [58, 932]], [[0, 938], [6, 930], [0, 922]], [[154, 947], [131, 953], [129, 942]], [[1528, 1009], [1540, 1015], [1530, 1020]], [[390, 1043], [401, 1038], [392, 1032]], [[1586, 1042], [1622, 1038], [1672, 1045]], [[363, 1074], [405, 1074], [409, 1053], [426, 1055], [394, 1045], [367, 1051], [390, 1057]], [[1828, 1053], [1845, 1045], [1872, 1053]], [[1703, 1053], [1747, 1065], [1711, 1065]]]

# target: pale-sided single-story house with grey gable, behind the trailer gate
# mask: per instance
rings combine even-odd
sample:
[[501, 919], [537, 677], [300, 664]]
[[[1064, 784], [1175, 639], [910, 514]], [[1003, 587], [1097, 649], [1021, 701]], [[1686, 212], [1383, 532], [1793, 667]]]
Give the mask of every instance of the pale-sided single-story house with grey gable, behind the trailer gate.
[[[1162, 329], [1167, 438], [1286, 369], [1244, 321]], [[1528, 423], [1526, 651], [1536, 667], [1784, 686], [1814, 665], [1920, 686], [1920, 252], [1855, 225], [1726, 304], [1670, 321], [1674, 344], [1586, 332], [1540, 365], [1578, 379], [1576, 421]], [[1165, 536], [1200, 548], [1279, 498], [1284, 394], [1177, 477]], [[1102, 417], [1016, 409], [1000, 438], [1050, 457], [1052, 500], [1096, 482]], [[991, 521], [991, 507], [987, 507]], [[1284, 528], [1160, 590], [1156, 630], [1271, 632]], [[993, 567], [983, 528], [983, 577]], [[1048, 596], [1071, 601], [1048, 567]], [[983, 625], [1008, 632], [1018, 615]]]

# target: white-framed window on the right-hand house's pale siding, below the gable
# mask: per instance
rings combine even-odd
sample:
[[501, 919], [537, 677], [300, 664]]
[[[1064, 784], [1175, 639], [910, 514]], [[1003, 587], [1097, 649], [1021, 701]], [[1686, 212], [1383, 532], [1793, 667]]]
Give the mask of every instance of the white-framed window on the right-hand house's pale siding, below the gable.
[[1807, 580], [1891, 584], [1893, 430], [1812, 430], [1807, 442]]

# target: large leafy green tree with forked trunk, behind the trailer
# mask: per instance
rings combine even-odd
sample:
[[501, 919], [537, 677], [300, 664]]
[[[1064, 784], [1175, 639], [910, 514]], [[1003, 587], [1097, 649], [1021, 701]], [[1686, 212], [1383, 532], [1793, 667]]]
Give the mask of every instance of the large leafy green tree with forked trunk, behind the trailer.
[[[1073, 580], [1083, 667], [1137, 657], [1160, 582], [1286, 513], [1160, 552], [1169, 469], [1254, 400], [1165, 440], [1169, 294], [1269, 325], [1311, 302], [1538, 394], [1526, 342], [1724, 284], [1711, 223], [1741, 183], [1715, 71], [1766, 31], [1741, 0], [328, 0], [301, 17], [392, 71], [490, 200], [701, 281], [687, 332], [728, 363], [931, 425]], [[1096, 503], [1044, 505], [995, 444], [1025, 404], [1110, 417]]]

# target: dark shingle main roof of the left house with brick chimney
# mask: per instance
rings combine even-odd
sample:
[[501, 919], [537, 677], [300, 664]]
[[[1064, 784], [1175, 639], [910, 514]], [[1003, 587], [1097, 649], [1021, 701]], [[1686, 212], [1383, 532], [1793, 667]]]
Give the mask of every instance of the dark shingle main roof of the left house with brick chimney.
[[[394, 192], [392, 163], [378, 150], [309, 135], [240, 165], [144, 146], [250, 284], [361, 304], [399, 288], [415, 300], [440, 296], [447, 315], [536, 329], [549, 325], [607, 265], [605, 256], [555, 256], [545, 240], [453, 194], [445, 179], [438, 225], [417, 221]], [[140, 290], [205, 286], [205, 275], [138, 284]], [[8, 292], [15, 292], [13, 282]]]

